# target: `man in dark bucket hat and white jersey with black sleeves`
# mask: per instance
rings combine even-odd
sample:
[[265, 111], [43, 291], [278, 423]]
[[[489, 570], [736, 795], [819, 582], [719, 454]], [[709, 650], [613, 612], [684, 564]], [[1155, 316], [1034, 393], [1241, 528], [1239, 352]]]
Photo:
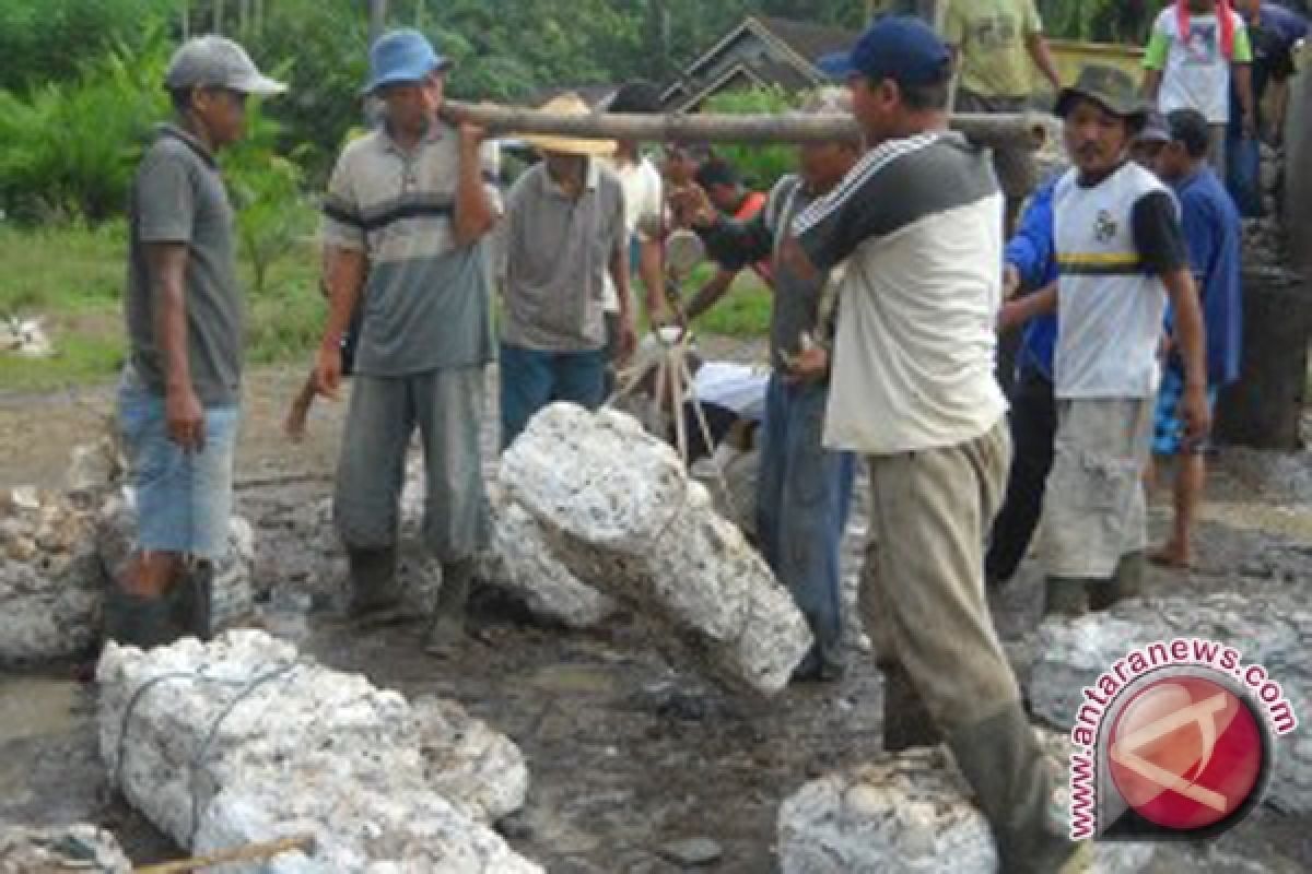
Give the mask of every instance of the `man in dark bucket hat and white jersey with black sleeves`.
[[1061, 92], [1075, 168], [1052, 194], [1055, 288], [1008, 304], [1002, 322], [1057, 313], [1057, 431], [1044, 501], [1044, 612], [1106, 609], [1139, 592], [1147, 545], [1143, 476], [1170, 300], [1185, 446], [1207, 435], [1207, 346], [1178, 207], [1130, 160], [1148, 106], [1134, 80], [1089, 66]]

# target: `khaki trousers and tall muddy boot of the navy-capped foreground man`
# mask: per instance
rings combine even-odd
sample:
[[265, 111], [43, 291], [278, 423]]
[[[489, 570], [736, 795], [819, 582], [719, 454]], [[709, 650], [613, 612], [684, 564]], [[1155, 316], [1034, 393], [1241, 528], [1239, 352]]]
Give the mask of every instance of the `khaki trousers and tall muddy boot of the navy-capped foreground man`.
[[998, 422], [968, 443], [870, 456], [861, 611], [880, 666], [903, 675], [903, 688], [886, 694], [922, 706], [947, 739], [989, 819], [1002, 870], [1055, 870], [1069, 844], [1048, 826], [1054, 774], [984, 596], [984, 533], [1009, 453]]

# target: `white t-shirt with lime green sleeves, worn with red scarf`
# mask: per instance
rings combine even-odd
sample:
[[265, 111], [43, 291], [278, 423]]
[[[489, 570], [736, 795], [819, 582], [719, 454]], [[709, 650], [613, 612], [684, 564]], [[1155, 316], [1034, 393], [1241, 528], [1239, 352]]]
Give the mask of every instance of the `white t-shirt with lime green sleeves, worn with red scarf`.
[[[1250, 63], [1244, 20], [1235, 20], [1233, 63]], [[1179, 13], [1174, 5], [1157, 16], [1144, 55], [1144, 67], [1161, 71], [1157, 109], [1162, 114], [1177, 109], [1197, 109], [1212, 124], [1229, 121], [1231, 63], [1221, 50], [1221, 29], [1215, 14], [1190, 13], [1189, 33], [1179, 33]]]

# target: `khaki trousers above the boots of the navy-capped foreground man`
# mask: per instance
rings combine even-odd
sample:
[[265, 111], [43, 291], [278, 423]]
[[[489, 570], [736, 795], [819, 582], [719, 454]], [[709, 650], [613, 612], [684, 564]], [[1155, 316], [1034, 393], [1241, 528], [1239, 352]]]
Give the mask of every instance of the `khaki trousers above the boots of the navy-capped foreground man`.
[[1010, 452], [1001, 421], [970, 443], [869, 456], [862, 620], [880, 666], [909, 675], [949, 735], [1021, 697], [984, 598], [984, 539]]

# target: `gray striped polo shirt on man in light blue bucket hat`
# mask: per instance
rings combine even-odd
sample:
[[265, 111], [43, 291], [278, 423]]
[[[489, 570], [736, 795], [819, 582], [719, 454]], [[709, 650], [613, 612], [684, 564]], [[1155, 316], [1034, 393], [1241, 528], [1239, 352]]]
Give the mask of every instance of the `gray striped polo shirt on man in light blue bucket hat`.
[[[484, 144], [483, 174], [496, 145]], [[407, 376], [495, 356], [485, 238], [454, 236], [457, 132], [437, 122], [413, 148], [380, 126], [342, 149], [323, 204], [325, 245], [363, 252], [369, 278], [356, 372]], [[499, 206], [489, 186], [493, 204]]]

